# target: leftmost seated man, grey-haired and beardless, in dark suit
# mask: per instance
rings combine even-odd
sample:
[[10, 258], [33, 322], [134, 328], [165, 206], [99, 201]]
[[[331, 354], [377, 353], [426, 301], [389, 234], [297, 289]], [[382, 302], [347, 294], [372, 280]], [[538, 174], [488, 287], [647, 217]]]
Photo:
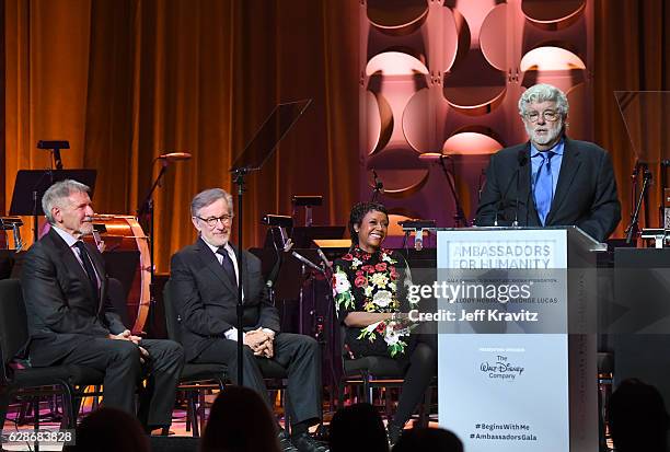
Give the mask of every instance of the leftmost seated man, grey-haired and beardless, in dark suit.
[[89, 187], [76, 181], [51, 185], [42, 198], [50, 229], [26, 253], [21, 286], [33, 367], [80, 364], [104, 372], [103, 404], [136, 414], [148, 431], [172, 424], [184, 351], [172, 340], [134, 336], [114, 311], [102, 255], [81, 237], [93, 232]]

